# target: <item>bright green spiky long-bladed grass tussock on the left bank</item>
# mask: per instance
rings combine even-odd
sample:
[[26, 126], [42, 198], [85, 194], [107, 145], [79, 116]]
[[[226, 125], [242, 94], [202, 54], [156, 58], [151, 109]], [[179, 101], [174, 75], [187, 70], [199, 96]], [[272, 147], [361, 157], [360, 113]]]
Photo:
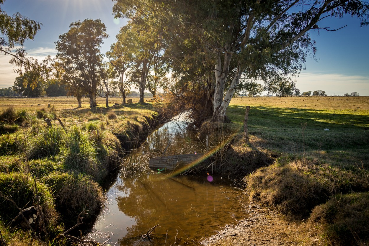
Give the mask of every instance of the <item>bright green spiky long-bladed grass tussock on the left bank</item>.
[[66, 136], [61, 155], [68, 168], [96, 176], [99, 172], [96, 149], [97, 146], [89, 139], [89, 135], [74, 127]]

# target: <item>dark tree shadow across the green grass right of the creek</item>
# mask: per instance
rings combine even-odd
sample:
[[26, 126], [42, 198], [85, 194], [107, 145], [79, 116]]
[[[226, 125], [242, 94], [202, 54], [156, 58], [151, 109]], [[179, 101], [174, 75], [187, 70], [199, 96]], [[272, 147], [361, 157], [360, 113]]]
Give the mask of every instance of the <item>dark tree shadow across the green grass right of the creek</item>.
[[[228, 117], [243, 124], [245, 107], [231, 105]], [[299, 108], [252, 107], [248, 129], [258, 145], [289, 153], [369, 146], [369, 115], [331, 114]], [[330, 131], [324, 131], [324, 129]]]

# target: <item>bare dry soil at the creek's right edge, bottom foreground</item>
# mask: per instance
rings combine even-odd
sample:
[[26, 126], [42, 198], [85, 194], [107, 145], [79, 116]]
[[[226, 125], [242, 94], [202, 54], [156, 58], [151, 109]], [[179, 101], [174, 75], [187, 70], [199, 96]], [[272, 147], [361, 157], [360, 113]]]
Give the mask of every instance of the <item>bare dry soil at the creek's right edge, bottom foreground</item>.
[[247, 218], [225, 225], [216, 235], [201, 240], [205, 246], [321, 245], [318, 229], [306, 222], [288, 221], [275, 211], [250, 202]]

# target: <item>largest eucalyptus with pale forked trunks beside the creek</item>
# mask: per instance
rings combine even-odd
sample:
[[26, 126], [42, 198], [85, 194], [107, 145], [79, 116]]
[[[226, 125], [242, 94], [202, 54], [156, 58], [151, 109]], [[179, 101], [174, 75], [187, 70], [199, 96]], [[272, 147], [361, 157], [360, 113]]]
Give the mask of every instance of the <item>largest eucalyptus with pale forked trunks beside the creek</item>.
[[296, 75], [307, 53], [315, 52], [310, 30], [327, 30], [319, 26], [321, 20], [344, 15], [357, 17], [361, 25], [367, 25], [369, 8], [361, 0], [142, 2], [146, 6], [155, 6], [155, 2], [165, 8], [163, 13], [181, 20], [180, 26], [172, 30], [187, 30], [188, 36], [196, 37], [201, 44], [193, 55], [204, 55], [210, 61], [207, 67], [215, 75], [210, 83], [214, 86], [213, 121], [220, 122], [225, 120], [241, 76], [260, 79], [273, 75], [282, 79]]

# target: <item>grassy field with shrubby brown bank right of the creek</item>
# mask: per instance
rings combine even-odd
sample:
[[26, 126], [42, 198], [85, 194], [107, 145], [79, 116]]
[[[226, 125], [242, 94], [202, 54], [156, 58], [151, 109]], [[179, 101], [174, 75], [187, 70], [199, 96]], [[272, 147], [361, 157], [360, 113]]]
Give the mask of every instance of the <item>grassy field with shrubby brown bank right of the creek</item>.
[[251, 201], [317, 229], [314, 242], [292, 236], [298, 245], [369, 243], [369, 97], [234, 98], [240, 129], [246, 105], [250, 143], [240, 136], [227, 163]]

